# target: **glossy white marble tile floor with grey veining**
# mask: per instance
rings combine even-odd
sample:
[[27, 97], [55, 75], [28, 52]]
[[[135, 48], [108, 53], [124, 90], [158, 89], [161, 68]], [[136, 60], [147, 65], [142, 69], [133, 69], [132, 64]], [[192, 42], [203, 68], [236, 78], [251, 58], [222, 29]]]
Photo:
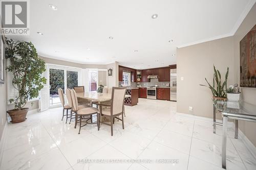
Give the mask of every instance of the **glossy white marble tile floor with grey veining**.
[[[169, 101], [139, 99], [125, 114], [125, 129], [115, 122], [114, 136], [106, 125], [99, 131], [87, 125], [78, 135], [74, 121], [61, 121], [61, 108], [28, 115], [8, 124], [0, 169], [222, 169], [221, 126], [213, 134], [212, 121], [176, 113]], [[230, 124], [227, 169], [256, 169], [256, 159], [233, 136]]]

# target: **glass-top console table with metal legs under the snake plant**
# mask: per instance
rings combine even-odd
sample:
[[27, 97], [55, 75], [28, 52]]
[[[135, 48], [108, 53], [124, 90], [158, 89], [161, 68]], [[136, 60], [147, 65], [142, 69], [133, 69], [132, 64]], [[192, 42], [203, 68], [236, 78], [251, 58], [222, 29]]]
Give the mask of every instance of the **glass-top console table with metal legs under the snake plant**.
[[238, 137], [238, 120], [256, 122], [256, 105], [243, 101], [232, 102], [222, 99], [213, 99], [214, 103], [214, 133], [216, 128], [216, 111], [222, 113], [222, 168], [226, 168], [227, 119], [234, 119], [235, 138]]

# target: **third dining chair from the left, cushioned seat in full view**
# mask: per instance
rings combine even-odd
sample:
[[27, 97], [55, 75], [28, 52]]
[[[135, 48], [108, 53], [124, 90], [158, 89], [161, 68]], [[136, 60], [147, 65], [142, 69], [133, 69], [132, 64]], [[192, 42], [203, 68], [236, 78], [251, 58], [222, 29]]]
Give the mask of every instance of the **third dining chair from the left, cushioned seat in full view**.
[[[81, 127], [87, 125], [87, 121], [89, 119], [91, 119], [91, 115], [97, 114], [97, 118], [98, 118], [98, 109], [94, 108], [94, 107], [87, 107], [87, 108], [79, 109], [78, 102], [77, 102], [77, 95], [76, 95], [76, 91], [74, 89], [71, 90], [71, 97], [72, 97], [72, 103], [73, 103], [73, 109], [72, 110], [76, 114], [75, 128], [76, 128], [76, 125], [77, 125], [77, 122], [78, 122], [78, 117], [79, 117], [79, 125], [80, 126], [79, 126], [78, 134], [80, 134]], [[89, 117], [86, 117], [86, 116], [89, 116]], [[84, 124], [83, 126], [81, 126], [82, 119], [86, 119], [86, 121], [84, 122], [86, 124]], [[98, 124], [98, 120], [97, 120], [97, 124]]]

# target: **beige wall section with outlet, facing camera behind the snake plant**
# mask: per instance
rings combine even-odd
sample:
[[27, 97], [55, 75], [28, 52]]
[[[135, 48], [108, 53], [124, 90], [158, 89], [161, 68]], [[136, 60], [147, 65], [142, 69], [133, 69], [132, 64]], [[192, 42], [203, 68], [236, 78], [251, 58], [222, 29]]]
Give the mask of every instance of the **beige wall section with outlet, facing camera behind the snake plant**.
[[[212, 94], [199, 84], [206, 85], [204, 78], [212, 82], [213, 65], [222, 77], [229, 67], [228, 85], [234, 83], [233, 37], [177, 49], [177, 112], [212, 117]], [[193, 111], [188, 111], [189, 106], [193, 106]]]

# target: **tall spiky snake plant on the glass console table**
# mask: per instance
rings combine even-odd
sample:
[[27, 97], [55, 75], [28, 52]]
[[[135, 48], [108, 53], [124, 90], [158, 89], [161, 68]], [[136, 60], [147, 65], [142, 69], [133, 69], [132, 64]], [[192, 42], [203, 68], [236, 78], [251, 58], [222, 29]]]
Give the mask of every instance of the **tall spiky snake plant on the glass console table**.
[[206, 78], [205, 78], [205, 80], [206, 80], [208, 86], [202, 85], [202, 84], [200, 84], [200, 85], [208, 87], [212, 92], [212, 96], [217, 97], [217, 98], [226, 98], [228, 70], [229, 70], [229, 68], [227, 67], [225, 80], [222, 83], [221, 82], [221, 73], [218, 69], [215, 68], [215, 65], [214, 65], [214, 78], [212, 80], [212, 85], [207, 81]]

